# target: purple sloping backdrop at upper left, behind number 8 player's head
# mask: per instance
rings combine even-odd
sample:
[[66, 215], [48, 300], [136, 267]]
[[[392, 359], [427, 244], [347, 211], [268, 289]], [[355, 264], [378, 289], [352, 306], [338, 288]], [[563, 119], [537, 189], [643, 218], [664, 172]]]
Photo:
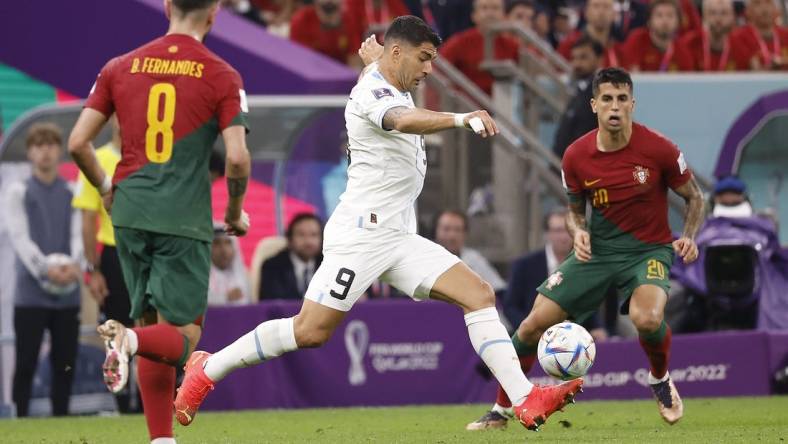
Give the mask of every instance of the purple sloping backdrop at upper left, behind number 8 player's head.
[[[108, 60], [166, 31], [161, 0], [2, 1], [0, 62], [84, 97]], [[241, 73], [248, 94], [347, 94], [358, 76], [224, 11], [206, 45]]]

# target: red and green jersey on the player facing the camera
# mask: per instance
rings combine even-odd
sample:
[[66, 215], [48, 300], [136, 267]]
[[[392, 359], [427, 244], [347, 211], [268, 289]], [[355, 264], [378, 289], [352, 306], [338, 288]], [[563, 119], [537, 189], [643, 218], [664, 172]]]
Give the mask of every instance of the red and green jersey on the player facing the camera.
[[598, 131], [570, 145], [562, 167], [569, 199], [585, 196], [591, 202], [592, 252], [669, 244], [668, 188], [692, 177], [684, 155], [673, 142], [637, 123], [626, 147], [603, 152], [597, 149]]

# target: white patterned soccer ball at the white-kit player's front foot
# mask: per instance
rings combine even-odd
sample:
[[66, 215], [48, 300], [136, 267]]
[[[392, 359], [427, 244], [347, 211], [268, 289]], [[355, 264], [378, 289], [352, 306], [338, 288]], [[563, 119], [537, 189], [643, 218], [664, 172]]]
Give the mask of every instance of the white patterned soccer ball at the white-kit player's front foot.
[[585, 328], [562, 322], [548, 328], [539, 339], [538, 356], [545, 373], [566, 381], [588, 373], [596, 345]]

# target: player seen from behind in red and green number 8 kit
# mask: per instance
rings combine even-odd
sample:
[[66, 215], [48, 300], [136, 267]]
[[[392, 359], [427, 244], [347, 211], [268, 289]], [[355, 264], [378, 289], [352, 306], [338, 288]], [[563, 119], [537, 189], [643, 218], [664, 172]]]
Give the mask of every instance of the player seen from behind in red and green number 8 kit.
[[[208, 160], [222, 135], [229, 203], [225, 229], [249, 228], [243, 199], [250, 170], [241, 77], [202, 43], [218, 0], [166, 0], [167, 34], [110, 60], [101, 70], [69, 140], [69, 151], [111, 210], [117, 251], [137, 328], [99, 326], [112, 392], [139, 358], [139, 385], [152, 442], [174, 443], [175, 366], [202, 332], [213, 239]], [[100, 168], [91, 141], [116, 113], [121, 161]]]

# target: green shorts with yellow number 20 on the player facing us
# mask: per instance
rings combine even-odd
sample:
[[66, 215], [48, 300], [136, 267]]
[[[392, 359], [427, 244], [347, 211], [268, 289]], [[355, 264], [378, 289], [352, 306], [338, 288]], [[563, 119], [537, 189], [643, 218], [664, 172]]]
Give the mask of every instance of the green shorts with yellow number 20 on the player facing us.
[[634, 252], [594, 253], [588, 262], [578, 261], [572, 251], [537, 290], [582, 323], [599, 309], [611, 287], [626, 299], [624, 314], [628, 313], [629, 298], [641, 285], [656, 285], [669, 294], [672, 264], [673, 249], [669, 245]]

